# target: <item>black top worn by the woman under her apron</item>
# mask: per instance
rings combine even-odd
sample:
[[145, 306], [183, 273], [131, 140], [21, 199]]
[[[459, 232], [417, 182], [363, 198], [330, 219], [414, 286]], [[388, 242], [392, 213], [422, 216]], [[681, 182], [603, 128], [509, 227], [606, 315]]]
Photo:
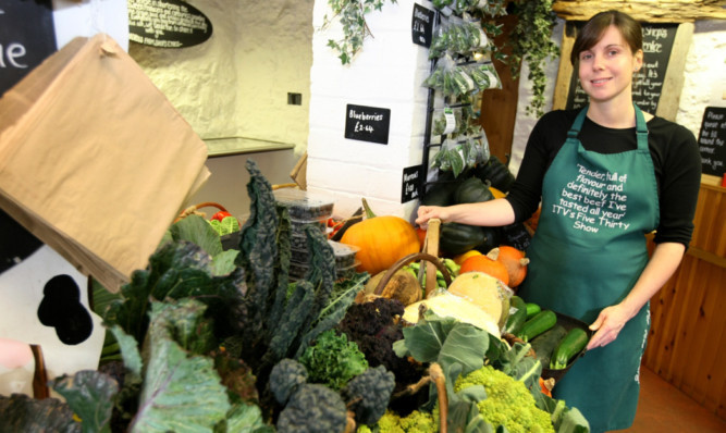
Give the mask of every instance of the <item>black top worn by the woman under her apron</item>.
[[[534, 125], [517, 180], [506, 197], [516, 221], [527, 220], [539, 207], [544, 173], [565, 144], [578, 112], [579, 109], [555, 110]], [[638, 148], [635, 129], [608, 128], [586, 117], [578, 138], [589, 151], [618, 153]], [[686, 127], [657, 116], [648, 122], [648, 131], [661, 209], [654, 242], [681, 243], [688, 247], [701, 185], [698, 143]]]

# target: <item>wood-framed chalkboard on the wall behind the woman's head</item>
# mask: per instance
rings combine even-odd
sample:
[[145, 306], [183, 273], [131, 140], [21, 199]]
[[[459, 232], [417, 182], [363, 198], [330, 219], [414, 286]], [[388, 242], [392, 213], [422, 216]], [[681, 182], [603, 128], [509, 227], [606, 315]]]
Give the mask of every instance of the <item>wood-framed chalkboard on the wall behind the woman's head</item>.
[[[577, 22], [574, 25], [581, 28], [585, 23]], [[641, 110], [655, 114], [657, 103], [663, 91], [665, 72], [668, 69], [670, 50], [676, 38], [678, 24], [642, 24], [643, 28], [643, 67], [635, 78], [632, 88], [632, 101]], [[582, 108], [588, 103], [588, 96], [579, 85], [577, 71], [574, 71], [569, 94], [567, 95], [567, 109]]]

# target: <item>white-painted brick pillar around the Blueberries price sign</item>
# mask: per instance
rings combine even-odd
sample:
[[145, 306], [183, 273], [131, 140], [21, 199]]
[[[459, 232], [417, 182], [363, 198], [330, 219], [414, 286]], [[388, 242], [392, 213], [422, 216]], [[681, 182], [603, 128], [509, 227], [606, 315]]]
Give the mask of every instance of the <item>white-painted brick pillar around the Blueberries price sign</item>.
[[[421, 164], [428, 97], [421, 83], [430, 71], [428, 49], [411, 41], [414, 4], [386, 2], [368, 14], [373, 37], [350, 65], [342, 65], [328, 47], [342, 35], [336, 23], [313, 34], [307, 182], [309, 190], [335, 199], [336, 216], [350, 215], [364, 197], [377, 213], [405, 219], [418, 205], [401, 203], [403, 170]], [[325, 14], [331, 14], [328, 2], [317, 0], [316, 29]], [[389, 144], [346, 139], [347, 104], [390, 109]]]

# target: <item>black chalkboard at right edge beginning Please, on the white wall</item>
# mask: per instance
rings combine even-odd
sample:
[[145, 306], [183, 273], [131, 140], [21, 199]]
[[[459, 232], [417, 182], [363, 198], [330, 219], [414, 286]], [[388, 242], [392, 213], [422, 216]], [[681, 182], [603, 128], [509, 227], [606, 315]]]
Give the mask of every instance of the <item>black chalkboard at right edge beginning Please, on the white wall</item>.
[[724, 175], [726, 161], [726, 107], [706, 107], [699, 133], [701, 171], [703, 174]]

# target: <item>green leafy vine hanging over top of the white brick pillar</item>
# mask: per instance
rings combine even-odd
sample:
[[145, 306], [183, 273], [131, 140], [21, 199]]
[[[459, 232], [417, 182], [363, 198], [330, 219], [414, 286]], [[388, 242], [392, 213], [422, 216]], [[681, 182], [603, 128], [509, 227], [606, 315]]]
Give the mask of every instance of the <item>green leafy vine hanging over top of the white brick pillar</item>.
[[[390, 0], [395, 3], [396, 0]], [[364, 39], [373, 36], [366, 23], [366, 14], [380, 11], [385, 0], [328, 0], [332, 16], [323, 17], [322, 28], [327, 28], [335, 18], [343, 27], [343, 38], [329, 39], [328, 47], [340, 52], [341, 63], [349, 64], [353, 57], [362, 48]]]

